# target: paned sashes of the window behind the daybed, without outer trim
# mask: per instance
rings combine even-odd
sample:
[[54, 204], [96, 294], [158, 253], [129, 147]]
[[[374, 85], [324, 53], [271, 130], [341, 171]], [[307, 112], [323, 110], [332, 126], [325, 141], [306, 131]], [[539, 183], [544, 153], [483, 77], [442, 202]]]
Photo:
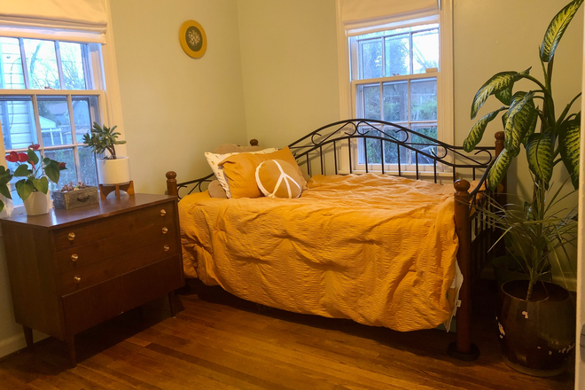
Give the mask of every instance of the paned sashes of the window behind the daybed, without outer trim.
[[[425, 136], [438, 138], [437, 82], [439, 72], [439, 24], [420, 24], [386, 29], [349, 38], [351, 86], [356, 118], [391, 121]], [[396, 129], [380, 128], [403, 139]], [[420, 138], [420, 139], [418, 139]], [[409, 142], [430, 153], [419, 136]], [[357, 144], [357, 168], [366, 163], [430, 164], [423, 155], [400, 150], [395, 144], [368, 140]], [[417, 161], [416, 161], [417, 160]]]

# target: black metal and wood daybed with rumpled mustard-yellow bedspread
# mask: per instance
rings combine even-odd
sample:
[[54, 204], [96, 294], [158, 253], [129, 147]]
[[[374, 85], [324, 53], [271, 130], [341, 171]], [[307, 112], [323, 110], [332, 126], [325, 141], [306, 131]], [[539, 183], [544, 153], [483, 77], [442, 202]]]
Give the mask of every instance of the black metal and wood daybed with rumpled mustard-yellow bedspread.
[[[214, 199], [203, 191], [213, 174], [176, 183], [168, 172], [168, 194], [187, 192], [185, 275], [266, 306], [397, 331], [448, 326], [456, 311], [449, 354], [477, 358], [471, 285], [495, 230], [471, 199], [502, 147], [498, 134], [468, 155], [390, 122], [348, 120], [288, 146], [317, 173], [299, 199]], [[455, 180], [454, 195], [441, 182]]]

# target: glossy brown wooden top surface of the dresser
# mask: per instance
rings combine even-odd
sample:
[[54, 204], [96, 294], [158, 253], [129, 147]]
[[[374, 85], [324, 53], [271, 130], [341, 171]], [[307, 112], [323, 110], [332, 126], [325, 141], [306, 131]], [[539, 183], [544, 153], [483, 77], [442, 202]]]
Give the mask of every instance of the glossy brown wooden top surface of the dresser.
[[42, 229], [65, 228], [77, 223], [90, 222], [108, 216], [122, 214], [144, 207], [150, 207], [169, 200], [177, 199], [174, 196], [137, 193], [130, 197], [127, 194], [121, 195], [121, 199], [108, 198], [99, 201], [98, 204], [84, 207], [72, 208], [69, 210], [52, 208], [48, 214], [42, 215], [13, 215], [0, 219], [0, 224], [26, 224], [28, 226]]

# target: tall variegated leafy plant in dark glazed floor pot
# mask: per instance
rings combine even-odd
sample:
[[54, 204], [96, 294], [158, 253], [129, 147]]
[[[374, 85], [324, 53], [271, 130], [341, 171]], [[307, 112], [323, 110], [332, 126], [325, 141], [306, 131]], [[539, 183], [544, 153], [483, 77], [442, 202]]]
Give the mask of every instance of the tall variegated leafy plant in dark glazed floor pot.
[[[551, 259], [563, 261], [568, 256], [566, 246], [573, 244], [575, 212], [558, 211], [559, 199], [566, 196], [561, 196], [562, 185], [552, 192], [550, 182], [553, 168], [562, 162], [578, 188], [581, 112], [570, 112], [581, 93], [558, 113], [552, 97], [552, 69], [558, 43], [582, 3], [573, 0], [550, 21], [540, 47], [544, 82], [530, 75], [531, 68], [492, 76], [473, 98], [472, 119], [492, 95], [503, 106], [477, 121], [464, 140], [464, 150], [471, 152], [487, 123], [503, 113], [504, 149], [487, 172], [490, 191], [501, 183], [522, 146], [526, 151], [533, 198], [519, 206], [495, 206], [495, 212], [485, 207], [482, 211], [503, 231], [503, 237], [509, 238], [509, 254], [528, 274], [528, 280], [502, 285], [498, 322], [504, 361], [534, 375], [564, 370], [563, 362], [574, 347], [574, 304], [569, 293], [539, 278], [550, 272]], [[514, 83], [520, 79], [533, 82], [534, 90], [514, 92]]]

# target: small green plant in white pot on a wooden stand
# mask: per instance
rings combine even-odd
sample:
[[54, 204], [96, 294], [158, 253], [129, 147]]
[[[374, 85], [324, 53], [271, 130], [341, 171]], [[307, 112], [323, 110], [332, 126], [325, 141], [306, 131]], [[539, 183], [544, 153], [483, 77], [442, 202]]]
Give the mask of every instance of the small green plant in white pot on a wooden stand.
[[119, 141], [120, 133], [114, 132], [116, 126], [108, 129], [105, 125], [99, 126], [93, 122], [90, 133], [83, 136], [83, 143], [95, 154], [101, 155], [108, 152], [104, 158], [97, 160], [98, 182], [104, 185], [129, 183], [130, 162], [128, 157], [116, 155], [115, 145], [126, 144], [126, 141]]

